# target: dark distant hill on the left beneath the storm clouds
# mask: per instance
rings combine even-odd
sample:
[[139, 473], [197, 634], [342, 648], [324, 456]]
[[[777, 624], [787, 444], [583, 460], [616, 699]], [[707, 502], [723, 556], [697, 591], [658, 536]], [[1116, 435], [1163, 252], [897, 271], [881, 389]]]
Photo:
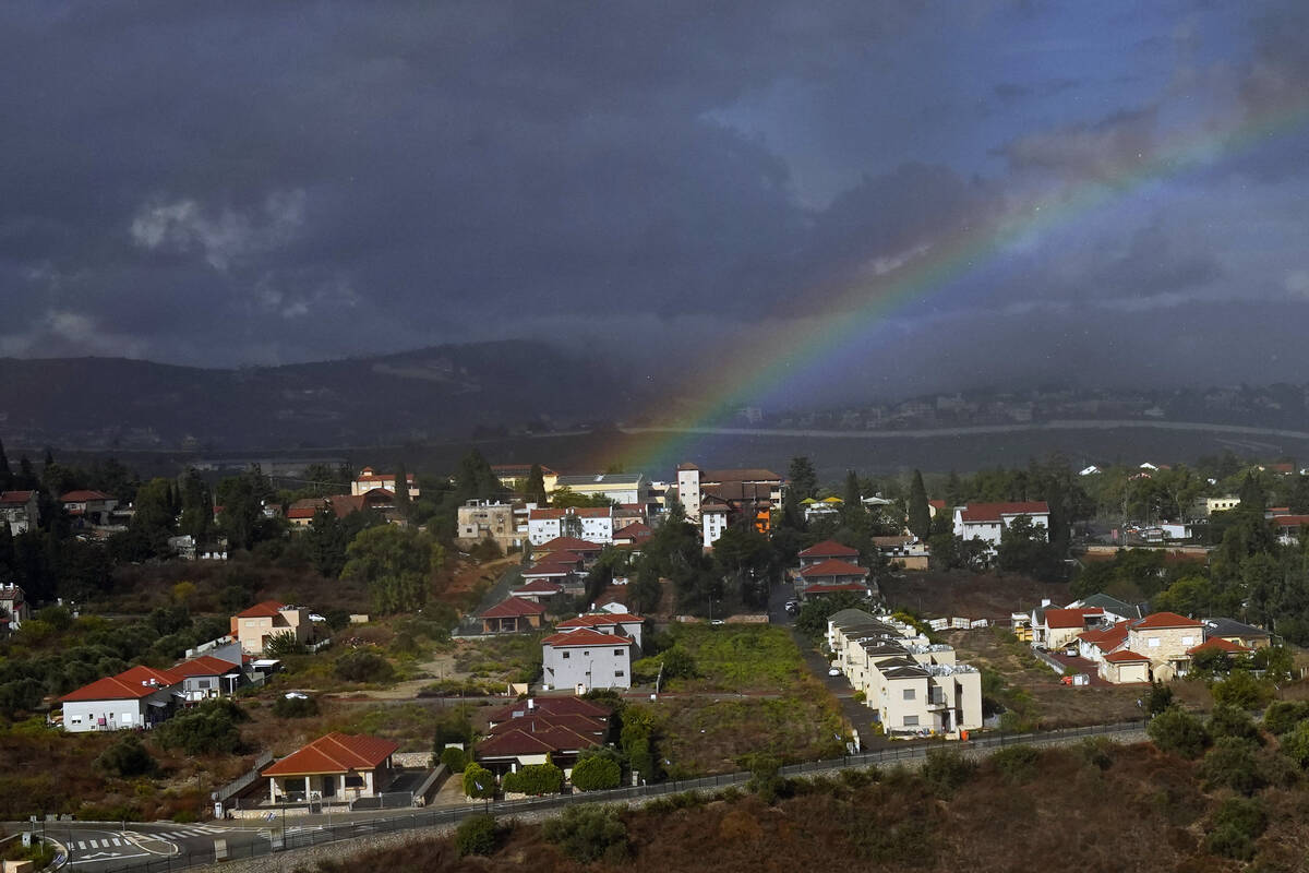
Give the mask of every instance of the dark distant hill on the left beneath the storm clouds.
[[0, 359], [0, 438], [26, 446], [394, 445], [568, 428], [619, 415], [631, 399], [594, 360], [522, 340], [236, 370]]

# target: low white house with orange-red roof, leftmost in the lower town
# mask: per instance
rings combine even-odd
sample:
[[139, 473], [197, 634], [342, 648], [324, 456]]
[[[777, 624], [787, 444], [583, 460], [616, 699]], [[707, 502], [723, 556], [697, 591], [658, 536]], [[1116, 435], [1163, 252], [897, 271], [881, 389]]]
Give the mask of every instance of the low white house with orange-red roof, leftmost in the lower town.
[[153, 728], [173, 715], [182, 702], [183, 679], [173, 670], [148, 666], [96, 679], [59, 698], [64, 730], [89, 733]]

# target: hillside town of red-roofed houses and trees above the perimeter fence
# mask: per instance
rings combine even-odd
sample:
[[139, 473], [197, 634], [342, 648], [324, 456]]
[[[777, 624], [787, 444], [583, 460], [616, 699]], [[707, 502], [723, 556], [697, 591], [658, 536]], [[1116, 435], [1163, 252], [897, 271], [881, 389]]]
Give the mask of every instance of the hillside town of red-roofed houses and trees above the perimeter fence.
[[[804, 457], [147, 482], [0, 461], [0, 736], [45, 750], [0, 796], [64, 863], [901, 743], [1148, 720], [1170, 749], [1305, 687], [1309, 474], [1284, 459], [827, 484]], [[105, 819], [113, 847], [76, 825]]]

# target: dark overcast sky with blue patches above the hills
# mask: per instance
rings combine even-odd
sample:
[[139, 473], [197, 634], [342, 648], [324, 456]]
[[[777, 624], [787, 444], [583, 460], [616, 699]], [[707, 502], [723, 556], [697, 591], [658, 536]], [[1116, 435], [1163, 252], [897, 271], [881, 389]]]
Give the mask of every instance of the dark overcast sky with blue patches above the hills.
[[1306, 13], [10, 0], [0, 355], [1306, 381]]

